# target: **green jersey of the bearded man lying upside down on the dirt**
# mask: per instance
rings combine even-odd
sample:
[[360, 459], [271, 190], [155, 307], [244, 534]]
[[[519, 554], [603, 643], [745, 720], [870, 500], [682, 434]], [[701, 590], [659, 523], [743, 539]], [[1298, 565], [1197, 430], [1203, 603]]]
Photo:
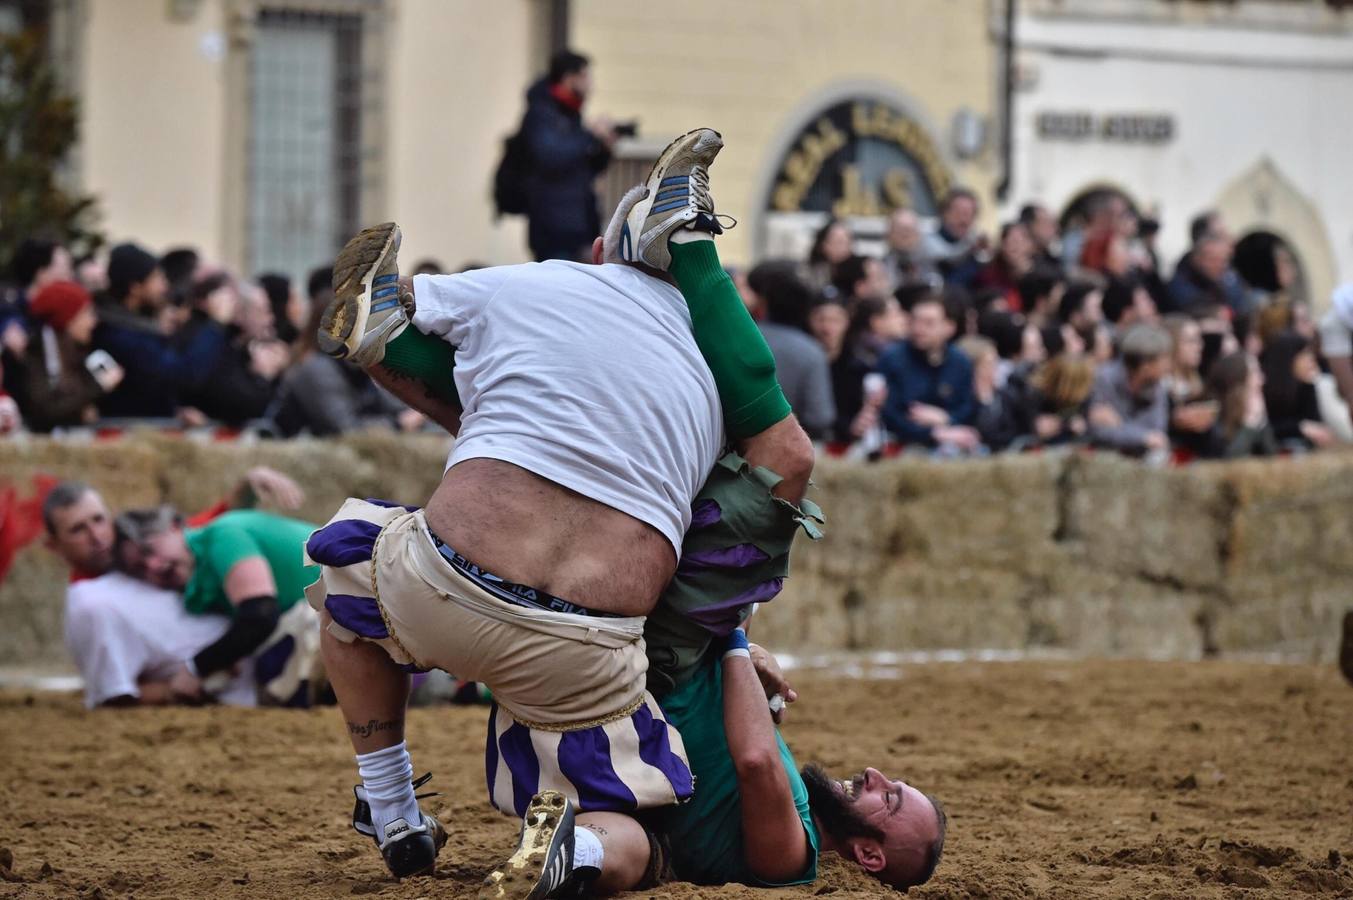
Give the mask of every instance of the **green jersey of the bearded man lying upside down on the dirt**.
[[663, 697], [659, 705], [667, 721], [681, 732], [690, 770], [695, 775], [695, 796], [678, 807], [658, 811], [653, 820], [668, 838], [676, 877], [695, 884], [770, 888], [813, 881], [817, 877], [817, 828], [808, 809], [808, 789], [778, 732], [779, 758], [812, 846], [812, 859], [798, 878], [783, 885], [762, 881], [747, 869], [737, 771], [724, 732], [724, 673], [718, 655], [706, 654], [690, 679]]

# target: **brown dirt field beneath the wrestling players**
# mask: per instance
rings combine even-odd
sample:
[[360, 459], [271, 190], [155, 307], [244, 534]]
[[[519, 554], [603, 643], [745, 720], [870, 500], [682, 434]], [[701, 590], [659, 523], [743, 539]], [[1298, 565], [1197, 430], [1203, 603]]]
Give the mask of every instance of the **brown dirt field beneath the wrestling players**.
[[[797, 682], [785, 731], [801, 762], [879, 765], [947, 804], [944, 861], [912, 896], [1353, 897], [1353, 688], [1333, 667], [950, 663]], [[333, 709], [87, 715], [0, 696], [0, 897], [474, 896], [515, 830], [484, 801], [483, 720], [413, 713], [452, 842], [436, 878], [395, 884], [348, 828]], [[879, 893], [828, 857], [806, 889], [647, 896]]]

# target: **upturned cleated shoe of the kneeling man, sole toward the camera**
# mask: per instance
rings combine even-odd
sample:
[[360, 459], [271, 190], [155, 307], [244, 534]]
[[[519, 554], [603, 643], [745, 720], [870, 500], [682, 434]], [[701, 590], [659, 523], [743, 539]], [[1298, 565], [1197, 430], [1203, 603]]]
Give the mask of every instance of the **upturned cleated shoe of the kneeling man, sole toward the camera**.
[[599, 874], [574, 872], [574, 804], [557, 790], [543, 790], [526, 807], [517, 851], [488, 873], [479, 900], [579, 896], [580, 880]]

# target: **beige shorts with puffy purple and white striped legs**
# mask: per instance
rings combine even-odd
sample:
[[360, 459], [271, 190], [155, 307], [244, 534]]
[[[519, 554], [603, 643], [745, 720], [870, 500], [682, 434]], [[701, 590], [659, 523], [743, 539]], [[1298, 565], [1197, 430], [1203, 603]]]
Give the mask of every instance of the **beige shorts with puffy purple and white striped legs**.
[[690, 796], [681, 735], [644, 689], [643, 617], [501, 600], [441, 556], [422, 510], [402, 506], [349, 499], [306, 554], [322, 566], [306, 598], [333, 636], [488, 686], [499, 706], [488, 724], [488, 789], [505, 812], [522, 815], [545, 788], [594, 811]]

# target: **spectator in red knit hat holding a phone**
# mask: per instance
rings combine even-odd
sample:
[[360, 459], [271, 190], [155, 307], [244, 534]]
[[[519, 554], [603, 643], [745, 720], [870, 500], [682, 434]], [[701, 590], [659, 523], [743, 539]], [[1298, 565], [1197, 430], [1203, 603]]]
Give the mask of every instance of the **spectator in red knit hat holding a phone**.
[[15, 398], [28, 429], [93, 422], [95, 403], [122, 383], [123, 371], [107, 353], [89, 352], [99, 323], [89, 292], [55, 282], [28, 299], [28, 315], [39, 329], [28, 341]]

